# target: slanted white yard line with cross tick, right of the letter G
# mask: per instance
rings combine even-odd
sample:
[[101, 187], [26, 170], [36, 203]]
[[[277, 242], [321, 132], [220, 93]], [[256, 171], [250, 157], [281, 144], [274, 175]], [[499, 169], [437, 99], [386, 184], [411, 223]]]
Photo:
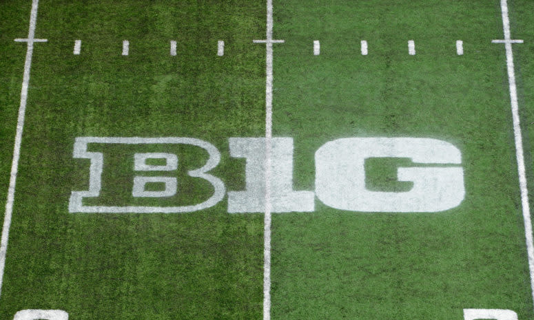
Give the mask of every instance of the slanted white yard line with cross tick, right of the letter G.
[[502, 29], [504, 40], [492, 41], [493, 43], [504, 43], [506, 48], [506, 69], [508, 70], [508, 81], [510, 85], [510, 104], [512, 108], [513, 136], [515, 138], [515, 158], [517, 160], [517, 173], [521, 190], [521, 206], [523, 211], [523, 222], [525, 228], [526, 253], [528, 255], [528, 268], [531, 275], [531, 294], [534, 303], [534, 245], [532, 237], [531, 209], [528, 204], [528, 189], [526, 187], [526, 173], [523, 153], [523, 140], [520, 126], [519, 104], [517, 103], [517, 87], [515, 87], [515, 71], [513, 66], [512, 43], [522, 43], [522, 40], [512, 40], [510, 35], [510, 21], [508, 18], [508, 4], [506, 0], [501, 0]]

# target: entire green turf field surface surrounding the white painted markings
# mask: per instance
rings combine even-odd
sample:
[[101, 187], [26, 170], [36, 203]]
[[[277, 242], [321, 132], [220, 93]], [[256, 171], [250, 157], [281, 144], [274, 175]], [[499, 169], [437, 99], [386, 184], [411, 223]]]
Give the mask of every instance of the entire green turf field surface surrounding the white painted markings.
[[[3, 207], [25, 56], [12, 39], [27, 34], [30, 3], [2, 8]], [[510, 8], [513, 35], [532, 38], [532, 3]], [[286, 40], [274, 49], [274, 136], [294, 138], [294, 189], [314, 190], [314, 152], [329, 140], [431, 137], [462, 151], [466, 199], [443, 213], [351, 213], [317, 200], [314, 213], [274, 215], [272, 319], [449, 320], [463, 308], [532, 319], [504, 45], [491, 44], [502, 38], [498, 1], [289, 0], [274, 12], [274, 36]], [[41, 0], [36, 36], [49, 43], [34, 51], [0, 319], [27, 308], [81, 320], [260, 319], [263, 215], [230, 215], [226, 200], [170, 215], [70, 214], [67, 205], [88, 186], [89, 162], [72, 158], [79, 136], [200, 138], [220, 150], [213, 173], [227, 190], [244, 188], [245, 161], [229, 158], [227, 138], [265, 134], [265, 46], [251, 43], [265, 36], [265, 1]], [[528, 41], [514, 46], [531, 170], [534, 57]], [[178, 154], [176, 198], [129, 197], [140, 149]], [[206, 158], [194, 147], [90, 150], [105, 152], [105, 169], [101, 197], [85, 204], [209, 194], [185, 175]], [[367, 186], [406, 190], [395, 179], [405, 165], [368, 160]]]

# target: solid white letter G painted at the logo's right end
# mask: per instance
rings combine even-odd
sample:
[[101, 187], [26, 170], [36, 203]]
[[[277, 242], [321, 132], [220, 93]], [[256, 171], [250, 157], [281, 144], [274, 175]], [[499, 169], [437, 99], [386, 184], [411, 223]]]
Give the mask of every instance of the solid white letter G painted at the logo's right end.
[[400, 167], [398, 180], [413, 182], [408, 192], [369, 191], [368, 158], [410, 158], [421, 164], [460, 164], [460, 150], [430, 138], [342, 138], [315, 155], [317, 198], [332, 208], [362, 212], [438, 212], [464, 200], [462, 167]]

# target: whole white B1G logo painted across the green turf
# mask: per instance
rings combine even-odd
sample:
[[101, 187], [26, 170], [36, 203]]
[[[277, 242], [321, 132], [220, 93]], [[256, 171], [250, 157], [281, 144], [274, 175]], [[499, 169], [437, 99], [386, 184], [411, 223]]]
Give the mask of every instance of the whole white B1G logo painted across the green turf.
[[[211, 185], [212, 193], [196, 204], [183, 206], [84, 205], [84, 198], [99, 198], [102, 189], [103, 152], [88, 151], [88, 145], [187, 145], [207, 152], [198, 169], [187, 171], [189, 178]], [[74, 158], [89, 159], [89, 189], [72, 191], [71, 213], [185, 213], [207, 209], [228, 195], [229, 213], [255, 213], [265, 210], [265, 138], [229, 138], [230, 156], [245, 158], [245, 189], [226, 193], [220, 178], [209, 173], [220, 162], [218, 149], [195, 138], [80, 137], [74, 143]], [[315, 197], [327, 206], [362, 212], [438, 212], [452, 209], [464, 200], [464, 171], [460, 150], [449, 142], [431, 138], [341, 138], [322, 145], [315, 153], [315, 192], [293, 190], [293, 138], [272, 138], [270, 190], [272, 212], [314, 211]], [[169, 199], [179, 194], [173, 172], [180, 159], [172, 152], [133, 154], [132, 199]], [[423, 167], [399, 167], [398, 181], [412, 182], [405, 192], [371, 191], [365, 185], [365, 160], [369, 158], [409, 158]], [[154, 164], [154, 161], [158, 161]], [[150, 173], [150, 175], [148, 174]], [[158, 175], [154, 175], [158, 173]], [[150, 189], [158, 184], [158, 190]]]

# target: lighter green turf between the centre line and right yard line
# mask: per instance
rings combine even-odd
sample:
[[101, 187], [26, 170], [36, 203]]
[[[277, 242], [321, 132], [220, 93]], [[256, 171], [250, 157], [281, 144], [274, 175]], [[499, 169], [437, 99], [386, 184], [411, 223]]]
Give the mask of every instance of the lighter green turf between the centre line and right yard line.
[[[296, 189], [314, 189], [314, 152], [329, 140], [411, 136], [462, 151], [466, 198], [443, 213], [317, 201], [314, 213], [275, 215], [273, 319], [462, 319], [463, 308], [531, 319], [504, 47], [491, 43], [498, 1], [286, 1], [275, 12], [286, 43], [274, 55], [274, 134], [295, 139]], [[396, 190], [389, 171], [368, 186]]]

